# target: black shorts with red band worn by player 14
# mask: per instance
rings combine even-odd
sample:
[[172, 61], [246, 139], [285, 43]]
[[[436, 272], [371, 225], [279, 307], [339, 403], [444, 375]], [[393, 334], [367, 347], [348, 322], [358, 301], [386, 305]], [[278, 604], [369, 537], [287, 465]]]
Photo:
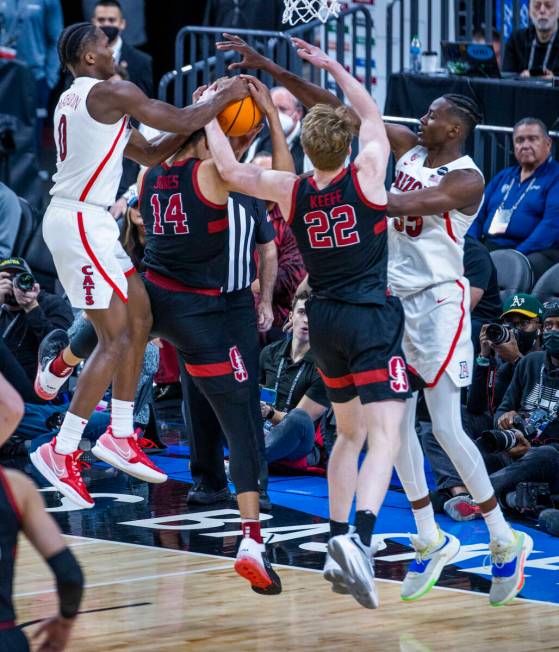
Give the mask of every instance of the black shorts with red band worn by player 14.
[[152, 335], [176, 347], [205, 395], [248, 386], [245, 363], [229, 336], [223, 296], [169, 290], [147, 279], [144, 283], [153, 313]]

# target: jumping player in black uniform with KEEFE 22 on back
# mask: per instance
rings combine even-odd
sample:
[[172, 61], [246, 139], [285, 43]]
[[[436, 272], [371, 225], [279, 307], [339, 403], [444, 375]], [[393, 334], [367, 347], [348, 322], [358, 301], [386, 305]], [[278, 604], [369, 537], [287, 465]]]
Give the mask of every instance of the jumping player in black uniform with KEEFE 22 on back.
[[[332, 537], [324, 576], [335, 591], [349, 591], [374, 608], [371, 535], [399, 447], [404, 399], [410, 396], [402, 307], [386, 288], [384, 179], [390, 148], [366, 90], [321, 50], [293, 41], [302, 59], [334, 77], [361, 118], [354, 165], [344, 167], [353, 132], [345, 108], [317, 105], [306, 116], [301, 142], [315, 170], [303, 178], [240, 165], [216, 120], [206, 133], [225, 181], [277, 202], [303, 254], [314, 292], [307, 302], [311, 347], [338, 433], [328, 468]], [[358, 472], [365, 441], [368, 452]], [[348, 518], [355, 495], [354, 533]]]

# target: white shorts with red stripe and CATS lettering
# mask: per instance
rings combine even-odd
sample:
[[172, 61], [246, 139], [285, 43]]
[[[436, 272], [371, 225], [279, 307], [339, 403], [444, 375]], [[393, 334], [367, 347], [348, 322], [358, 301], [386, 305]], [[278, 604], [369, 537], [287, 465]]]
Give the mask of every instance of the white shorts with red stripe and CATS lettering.
[[127, 277], [135, 269], [108, 211], [53, 197], [43, 219], [43, 237], [74, 308], [108, 308], [113, 292], [127, 303]]

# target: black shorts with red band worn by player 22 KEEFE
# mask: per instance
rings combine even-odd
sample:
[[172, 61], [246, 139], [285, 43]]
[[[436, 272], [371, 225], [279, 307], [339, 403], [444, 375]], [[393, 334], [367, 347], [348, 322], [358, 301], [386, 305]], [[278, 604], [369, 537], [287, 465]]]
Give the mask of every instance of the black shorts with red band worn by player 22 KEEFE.
[[411, 396], [399, 299], [365, 305], [311, 297], [307, 315], [311, 350], [330, 401], [359, 396], [365, 404]]

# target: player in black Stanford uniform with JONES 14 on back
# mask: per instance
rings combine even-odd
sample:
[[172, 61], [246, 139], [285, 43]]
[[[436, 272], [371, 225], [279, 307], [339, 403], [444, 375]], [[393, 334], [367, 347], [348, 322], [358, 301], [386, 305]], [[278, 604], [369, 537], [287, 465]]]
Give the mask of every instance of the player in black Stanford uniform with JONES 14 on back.
[[[282, 136], [281, 158], [290, 160], [277, 115], [271, 131], [275, 141]], [[204, 131], [191, 136], [171, 161], [148, 170], [140, 187], [152, 334], [177, 348], [227, 438], [244, 534], [235, 570], [257, 593], [280, 593], [260, 533], [258, 434], [248, 372], [230, 336], [222, 295], [229, 260], [229, 186], [210, 158]]]

